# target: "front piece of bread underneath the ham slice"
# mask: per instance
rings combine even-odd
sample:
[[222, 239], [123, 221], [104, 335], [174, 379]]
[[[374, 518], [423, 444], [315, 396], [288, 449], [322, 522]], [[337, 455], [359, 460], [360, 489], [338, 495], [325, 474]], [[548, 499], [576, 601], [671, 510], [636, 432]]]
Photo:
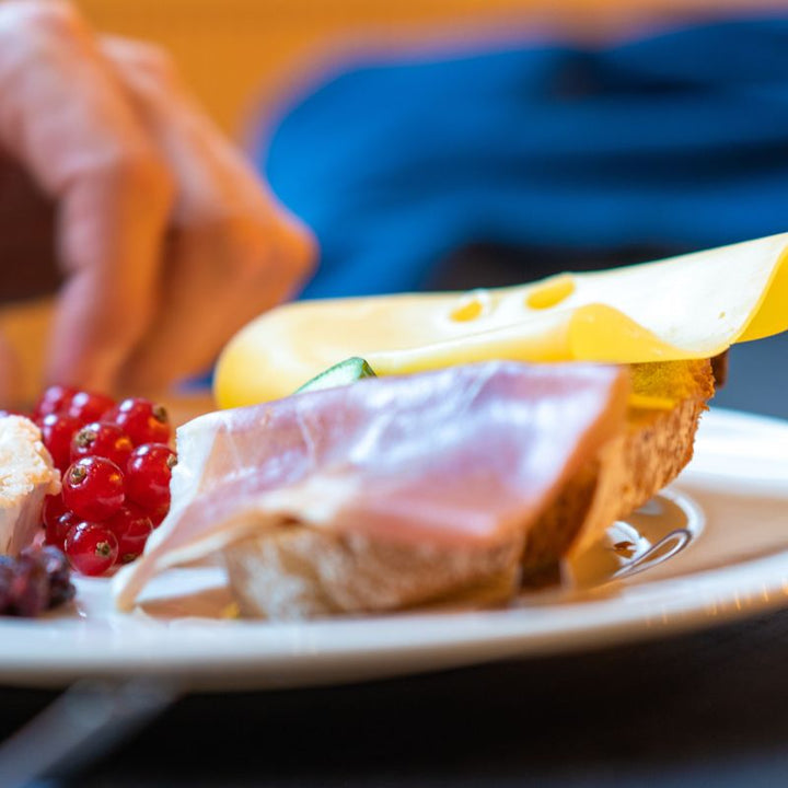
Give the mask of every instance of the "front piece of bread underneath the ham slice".
[[473, 601], [510, 599], [522, 538], [487, 549], [413, 548], [289, 524], [224, 548], [230, 587], [244, 617], [314, 618], [392, 611], [474, 589]]

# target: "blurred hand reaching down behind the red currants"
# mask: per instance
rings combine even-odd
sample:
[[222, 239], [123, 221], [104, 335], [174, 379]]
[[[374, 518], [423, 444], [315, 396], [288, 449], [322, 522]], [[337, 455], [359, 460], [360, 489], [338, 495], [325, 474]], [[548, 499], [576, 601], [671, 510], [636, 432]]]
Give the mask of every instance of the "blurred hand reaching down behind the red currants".
[[[0, 148], [54, 204], [65, 285], [51, 382], [151, 389], [207, 369], [310, 271], [312, 236], [193, 104], [166, 56], [94, 35], [68, 4], [0, 4]], [[19, 213], [51, 208], [20, 199], [0, 233], [40, 234], [37, 217]], [[12, 393], [2, 390], [11, 364], [0, 341], [0, 396]]]

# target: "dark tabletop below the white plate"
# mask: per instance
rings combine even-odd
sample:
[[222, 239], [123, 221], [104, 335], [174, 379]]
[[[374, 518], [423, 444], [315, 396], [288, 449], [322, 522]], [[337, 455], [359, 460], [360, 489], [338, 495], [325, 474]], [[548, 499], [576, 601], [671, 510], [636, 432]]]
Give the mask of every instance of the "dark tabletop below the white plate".
[[[573, 657], [192, 696], [72, 785], [777, 788], [786, 665], [779, 613]], [[0, 734], [51, 697], [2, 691]]]

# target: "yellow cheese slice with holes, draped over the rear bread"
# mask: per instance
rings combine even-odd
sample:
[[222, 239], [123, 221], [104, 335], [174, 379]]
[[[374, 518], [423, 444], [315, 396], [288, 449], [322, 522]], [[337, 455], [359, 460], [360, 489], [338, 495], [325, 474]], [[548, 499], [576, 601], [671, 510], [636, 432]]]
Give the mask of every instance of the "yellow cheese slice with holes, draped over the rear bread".
[[378, 374], [510, 359], [636, 363], [716, 356], [788, 329], [788, 233], [512, 288], [303, 301], [242, 329], [222, 407], [291, 394], [343, 359]]

